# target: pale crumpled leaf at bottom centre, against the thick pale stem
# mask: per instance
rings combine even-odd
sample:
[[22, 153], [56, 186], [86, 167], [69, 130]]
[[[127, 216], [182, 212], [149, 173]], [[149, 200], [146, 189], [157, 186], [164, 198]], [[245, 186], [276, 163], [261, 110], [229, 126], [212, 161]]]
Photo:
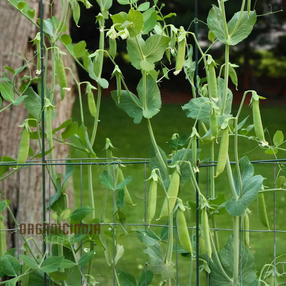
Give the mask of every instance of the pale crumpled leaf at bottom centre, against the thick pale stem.
[[146, 245], [146, 249], [143, 251], [147, 253], [150, 258], [150, 268], [154, 274], [162, 275], [164, 280], [169, 280], [174, 277], [173, 268], [174, 263], [166, 264], [164, 262], [164, 254], [161, 245], [155, 239], [143, 235], [143, 242]]

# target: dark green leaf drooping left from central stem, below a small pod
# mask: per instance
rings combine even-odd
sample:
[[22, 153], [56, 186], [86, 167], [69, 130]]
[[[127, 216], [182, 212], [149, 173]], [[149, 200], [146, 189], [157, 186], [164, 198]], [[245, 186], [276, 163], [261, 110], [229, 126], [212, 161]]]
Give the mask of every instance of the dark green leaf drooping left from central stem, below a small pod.
[[132, 92], [126, 90], [121, 91], [120, 102], [118, 103], [117, 90], [111, 92], [115, 104], [120, 109], [124, 110], [131, 118], [134, 118], [134, 123], [138, 124], [142, 120], [143, 105], [138, 97]]

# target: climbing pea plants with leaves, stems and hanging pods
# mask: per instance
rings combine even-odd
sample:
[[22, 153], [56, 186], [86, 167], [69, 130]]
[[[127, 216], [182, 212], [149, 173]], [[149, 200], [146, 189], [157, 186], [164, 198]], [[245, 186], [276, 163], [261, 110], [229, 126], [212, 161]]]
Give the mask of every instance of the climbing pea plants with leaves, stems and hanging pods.
[[[35, 11], [32, 11], [25, 1], [10, 1], [11, 5], [22, 13], [33, 25], [39, 28], [39, 19], [36, 21]], [[114, 64], [112, 78], [116, 78], [117, 89], [111, 92], [111, 97], [116, 106], [124, 110], [128, 116], [133, 118], [135, 124], [145, 122], [148, 126], [151, 145], [149, 148], [150, 169], [151, 174], [148, 179], [150, 183], [149, 200], [147, 217], [145, 221], [146, 228], [136, 229], [135, 239], [132, 236], [134, 229], [129, 230], [126, 215], [122, 212], [124, 204], [134, 205], [132, 196], [128, 192], [127, 184], [131, 182], [132, 177], [124, 178], [122, 165], [108, 164], [107, 170], [100, 174], [100, 182], [106, 187], [104, 204], [102, 206], [101, 215], [96, 217], [96, 206], [94, 204], [94, 188], [93, 188], [93, 171], [92, 164], [88, 164], [88, 196], [90, 205], [81, 206], [73, 212], [69, 209], [69, 198], [65, 193], [67, 181], [74, 173], [74, 166], [66, 165], [65, 174], [56, 172], [55, 165], [46, 165], [49, 178], [54, 187], [54, 194], [51, 196], [47, 208], [53, 210], [55, 215], [53, 219], [57, 221], [57, 226], [53, 232], [56, 234], [57, 241], [53, 240], [52, 251], [42, 253], [37, 246], [38, 253], [34, 253], [30, 243], [34, 243], [33, 239], [23, 238], [24, 255], [19, 255], [19, 259], [15, 257], [15, 249], [7, 251], [5, 233], [0, 231], [0, 268], [1, 277], [7, 275], [13, 277], [8, 281], [0, 282], [0, 284], [16, 285], [44, 285], [44, 275], [49, 283], [53, 285], [82, 285], [82, 281], [86, 285], [96, 285], [94, 278], [94, 246], [99, 245], [104, 252], [106, 262], [114, 269], [115, 281], [114, 285], [151, 285], [154, 275], [158, 275], [161, 280], [160, 285], [171, 285], [172, 283], [180, 283], [176, 281], [174, 276], [175, 264], [173, 262], [174, 243], [173, 229], [176, 226], [178, 242], [185, 259], [193, 261], [198, 257], [200, 260], [200, 271], [208, 273], [209, 284], [212, 286], [235, 286], [235, 285], [277, 285], [277, 277], [284, 273], [279, 273], [277, 265], [273, 262], [265, 264], [261, 273], [257, 276], [255, 269], [255, 259], [253, 253], [249, 250], [249, 209], [250, 204], [257, 199], [259, 217], [262, 225], [270, 229], [264, 192], [285, 191], [286, 178], [280, 173], [277, 174], [276, 188], [266, 189], [263, 185], [264, 177], [261, 175], [254, 176], [254, 167], [250, 163], [247, 156], [239, 158], [238, 155], [238, 138], [249, 138], [257, 142], [257, 144], [265, 149], [268, 154], [274, 154], [284, 142], [283, 133], [277, 131], [273, 137], [273, 143], [265, 140], [265, 130], [263, 130], [261, 116], [259, 111], [259, 101], [265, 98], [259, 96], [254, 90], [248, 90], [244, 93], [241, 105], [234, 117], [232, 115], [232, 99], [233, 95], [229, 86], [229, 78], [237, 86], [237, 76], [235, 68], [238, 66], [229, 62], [229, 50], [232, 46], [237, 45], [247, 38], [256, 23], [257, 15], [252, 3], [248, 0], [242, 1], [241, 10], [227, 21], [225, 16], [226, 1], [219, 0], [218, 6], [213, 5], [207, 17], [207, 25], [209, 28], [208, 39], [211, 45], [206, 51], [200, 47], [194, 33], [183, 26], [175, 27], [168, 24], [168, 18], [176, 16], [170, 13], [164, 16], [164, 4], [160, 7], [157, 5], [158, 0], [151, 2], [143, 2], [139, 5], [138, 0], [118, 0], [124, 8], [130, 7], [128, 13], [120, 12], [115, 15], [109, 14], [112, 6], [112, 0], [97, 0], [96, 4], [100, 8], [100, 13], [96, 16], [96, 24], [99, 27], [99, 47], [94, 53], [90, 53], [86, 49], [86, 42], [72, 44], [72, 39], [65, 34], [68, 21], [68, 12], [71, 10], [73, 19], [78, 25], [80, 19], [80, 6], [82, 2], [88, 9], [92, 5], [87, 0], [68, 0], [63, 1], [62, 15], [60, 19], [52, 16], [50, 19], [43, 20], [44, 39], [41, 39], [40, 33], [35, 35], [33, 40], [36, 45], [36, 55], [31, 61], [26, 61], [25, 65], [14, 70], [6, 67], [10, 74], [5, 73], [0, 79], [0, 92], [3, 100], [9, 102], [3, 112], [10, 105], [23, 104], [28, 111], [28, 118], [20, 126], [23, 128], [21, 134], [21, 142], [19, 152], [16, 159], [2, 156], [1, 162], [9, 163], [0, 166], [0, 181], [8, 178], [14, 172], [33, 158], [42, 157], [42, 131], [45, 135], [45, 155], [53, 162], [55, 142], [67, 144], [80, 152], [80, 156], [86, 158], [92, 163], [96, 158], [93, 145], [96, 139], [96, 132], [99, 122], [100, 100], [102, 89], [108, 88], [108, 81], [102, 78], [104, 55]], [[152, 7], [151, 7], [152, 6]], [[247, 7], [245, 7], [247, 6]], [[113, 25], [105, 27], [105, 21], [111, 18]], [[109, 47], [105, 47], [105, 38], [108, 37]], [[132, 93], [124, 81], [124, 76], [120, 67], [116, 64], [116, 41], [121, 38], [126, 40], [127, 52], [130, 57], [131, 65], [140, 70], [142, 78], [137, 86], [137, 94]], [[194, 40], [201, 58], [198, 64], [203, 64], [205, 77], [200, 78], [196, 74], [196, 62], [193, 61], [193, 46], [188, 43], [189, 39]], [[219, 65], [212, 58], [209, 51], [212, 45], [220, 41], [225, 45], [225, 62]], [[65, 47], [65, 51], [59, 49], [59, 43]], [[47, 69], [41, 70], [41, 47], [47, 67], [48, 59], [51, 59], [51, 84], [47, 84]], [[97, 83], [93, 86], [90, 82], [78, 82], [70, 68], [63, 65], [62, 57], [69, 53], [78, 65], [84, 69], [89, 77]], [[166, 67], [162, 59], [166, 59], [171, 64], [171, 68]], [[30, 64], [37, 64], [36, 75], [25, 75], [19, 78], [19, 74], [23, 70], [29, 70]], [[158, 63], [161, 62], [161, 65]], [[173, 67], [173, 63], [175, 66]], [[155, 65], [156, 64], [156, 65]], [[222, 72], [224, 77], [222, 78]], [[161, 109], [161, 95], [159, 83], [163, 79], [168, 79], [168, 74], [173, 72], [175, 76], [183, 72], [186, 80], [189, 82], [192, 90], [193, 98], [182, 107], [188, 118], [195, 120], [194, 125], [190, 129], [189, 136], [180, 136], [174, 134], [169, 140], [172, 154], [170, 164], [168, 164], [168, 156], [158, 146], [151, 126], [151, 118], [153, 118]], [[66, 73], [70, 73], [76, 82], [76, 87], [80, 102], [81, 122], [74, 122], [68, 119], [62, 122], [56, 128], [52, 128], [52, 121], [56, 119], [57, 108], [55, 102], [56, 82], [60, 87], [61, 100], [68, 100], [68, 92], [70, 87], [67, 86]], [[159, 75], [161, 76], [159, 78]], [[217, 76], [218, 75], [218, 76]], [[44, 106], [41, 106], [41, 82], [40, 77], [44, 77]], [[38, 84], [38, 93], [33, 90], [31, 84]], [[85, 110], [82, 104], [81, 85], [86, 86], [86, 96], [88, 99], [88, 109], [94, 117], [94, 126], [92, 133], [89, 134], [84, 123]], [[161, 83], [162, 84], [162, 83]], [[122, 89], [122, 86], [124, 89]], [[97, 92], [97, 102], [93, 91]], [[239, 116], [243, 108], [246, 97], [250, 98], [250, 105], [253, 110], [253, 125], [243, 128], [247, 118], [239, 122]], [[0, 99], [1, 100], [1, 99]], [[0, 101], [0, 107], [2, 100]], [[44, 111], [44, 120], [41, 118], [41, 111]], [[197, 126], [200, 126], [198, 129]], [[44, 128], [44, 130], [41, 130]], [[254, 128], [255, 136], [248, 136], [248, 132]], [[63, 130], [63, 131], [62, 131]], [[60, 131], [62, 131], [60, 133]], [[229, 146], [229, 137], [234, 137], [234, 148]], [[38, 140], [39, 150], [35, 152], [30, 147], [30, 140]], [[205, 148], [209, 148], [209, 159], [200, 160], [200, 149], [198, 142], [204, 144]], [[219, 153], [215, 154], [215, 144], [220, 144]], [[186, 148], [185, 148], [186, 147]], [[199, 145], [200, 147], [200, 145]], [[104, 147], [108, 162], [117, 160], [113, 156], [114, 146], [112, 142], [106, 138]], [[234, 150], [235, 166], [231, 168], [229, 159], [229, 151]], [[196, 181], [196, 173], [199, 172], [198, 162], [215, 162], [210, 166], [210, 195], [206, 196]], [[216, 165], [216, 166], [215, 166]], [[11, 170], [13, 167], [13, 170]], [[222, 176], [224, 170], [227, 170], [229, 181], [229, 189], [232, 194], [230, 200], [225, 200], [224, 194], [218, 193], [215, 189], [215, 180], [218, 176]], [[179, 190], [184, 184], [189, 182], [192, 184], [195, 192], [199, 197], [199, 249], [196, 249], [195, 235], [189, 234], [188, 226], [184, 212], [186, 209], [195, 209], [196, 203], [188, 200], [182, 201], [178, 197]], [[150, 225], [155, 219], [155, 210], [157, 204], [157, 187], [158, 184], [165, 195], [161, 208], [159, 219], [168, 219], [168, 227], [161, 235], [157, 235], [151, 230]], [[106, 203], [108, 192], [112, 191], [114, 205], [113, 209], [107, 210]], [[3, 201], [0, 202], [1, 213], [7, 208], [13, 217], [13, 213], [9, 208], [9, 200], [6, 200], [1, 192]], [[134, 206], [134, 208], [136, 208]], [[228, 213], [233, 219], [233, 234], [225, 242], [223, 248], [219, 249], [219, 237], [217, 231], [217, 217], [221, 213]], [[107, 216], [113, 220], [110, 229], [105, 233], [107, 238], [104, 240], [102, 234], [90, 231], [85, 234], [82, 231], [74, 235], [60, 233], [59, 225], [63, 221], [67, 221], [69, 230], [73, 230], [75, 224], [88, 223], [90, 225], [97, 223], [106, 223]], [[88, 220], [86, 219], [88, 217]], [[13, 217], [16, 225], [17, 221]], [[0, 227], [4, 229], [3, 215], [0, 217]], [[115, 222], [119, 226], [115, 225]], [[242, 228], [243, 238], [239, 235]], [[118, 260], [124, 255], [123, 246], [118, 243], [119, 232], [128, 237], [140, 250], [148, 255], [148, 267], [144, 267], [140, 277], [136, 280], [132, 273], [127, 271], [116, 270]], [[51, 243], [51, 235], [42, 231], [42, 235], [47, 243]], [[79, 250], [82, 245], [87, 245], [86, 253], [79, 258]], [[186, 255], [189, 254], [189, 255]], [[21, 261], [21, 263], [20, 263]], [[84, 268], [82, 268], [84, 267]], [[194, 266], [193, 266], [194, 267]], [[45, 274], [44, 274], [45, 273]], [[192, 275], [192, 272], [191, 274]], [[206, 275], [205, 275], [206, 278]], [[206, 281], [200, 281], [206, 283]], [[190, 284], [192, 279], [190, 277]], [[205, 284], [202, 284], [205, 285]]]

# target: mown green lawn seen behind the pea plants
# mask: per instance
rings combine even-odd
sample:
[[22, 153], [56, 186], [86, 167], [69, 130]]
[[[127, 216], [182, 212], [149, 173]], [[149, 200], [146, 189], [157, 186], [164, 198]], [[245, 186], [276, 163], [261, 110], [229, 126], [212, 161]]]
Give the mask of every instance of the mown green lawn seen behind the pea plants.
[[[83, 102], [84, 109], [88, 110], [87, 102]], [[233, 115], [236, 115], [238, 106], [235, 106], [233, 110]], [[262, 112], [262, 122], [264, 127], [268, 127], [270, 130], [271, 138], [276, 130], [285, 130], [284, 126], [286, 123], [286, 118], [284, 116], [283, 107], [271, 107], [267, 106], [261, 107]], [[243, 111], [241, 112], [241, 120], [243, 120], [247, 115], [251, 115], [251, 109], [249, 106], [245, 105]], [[80, 109], [78, 101], [74, 104], [73, 110], [73, 120], [80, 122]], [[166, 142], [171, 138], [174, 133], [187, 133], [190, 134], [191, 128], [194, 121], [187, 118], [182, 112], [181, 106], [172, 105], [162, 105], [159, 114], [151, 119], [151, 124], [153, 132], [157, 141], [157, 144], [166, 152], [170, 154], [171, 150], [168, 148]], [[252, 124], [251, 117], [247, 120], [247, 125]], [[92, 129], [93, 118], [89, 115], [85, 117], [85, 125], [88, 130]], [[251, 135], [254, 135], [254, 131], [251, 131]], [[110, 138], [112, 144], [116, 147], [113, 151], [114, 156], [128, 157], [128, 158], [148, 158], [148, 148], [150, 145], [150, 137], [147, 130], [147, 124], [145, 120], [138, 125], [133, 123], [133, 119], [129, 118], [128, 115], [122, 110], [116, 108], [113, 100], [110, 98], [103, 98], [102, 106], [100, 110], [100, 122], [98, 124], [98, 132], [96, 135], [96, 141], [94, 144], [94, 150], [98, 157], [106, 157], [102, 149], [105, 145], [105, 138]], [[269, 138], [267, 137], [267, 140]], [[233, 138], [230, 140], [230, 148], [233, 150], [234, 141]], [[249, 160], [258, 159], [273, 159], [273, 155], [264, 154], [261, 148], [256, 148], [257, 144], [245, 138], [239, 138], [239, 157], [241, 158], [246, 154]], [[202, 160], [209, 155], [207, 146], [203, 146], [203, 150], [200, 155]], [[219, 144], [216, 146], [215, 156], [217, 157], [219, 150]], [[279, 158], [285, 158], [284, 152], [279, 152], [277, 154]], [[76, 155], [72, 150], [72, 157], [75, 158]], [[230, 153], [230, 160], [234, 160], [234, 153]], [[123, 208], [124, 213], [127, 216], [128, 223], [143, 223], [144, 219], [144, 164], [128, 164], [124, 168], [123, 172], [125, 177], [131, 175], [133, 180], [128, 185], [128, 190], [132, 196], [132, 200], [136, 203], [136, 206], [125, 205]], [[94, 199], [96, 207], [96, 217], [100, 217], [102, 211], [102, 204], [104, 198], [105, 188], [99, 182], [99, 174], [103, 172], [104, 167], [93, 166], [93, 186], [94, 186]], [[273, 165], [269, 164], [254, 164], [255, 174], [261, 174], [263, 177], [267, 178], [264, 181], [264, 185], [273, 187]], [[277, 170], [278, 170], [277, 166]], [[282, 175], [282, 173], [281, 173]], [[150, 169], [147, 165], [147, 178], [150, 176]], [[200, 168], [200, 188], [206, 194], [206, 168]], [[80, 206], [80, 167], [76, 166], [76, 171], [74, 174], [74, 190], [75, 190], [75, 204]], [[216, 193], [224, 192], [226, 198], [231, 198], [231, 192], [229, 190], [229, 183], [226, 176], [226, 170], [218, 178], [215, 179], [215, 189]], [[83, 204], [89, 204], [88, 198], [88, 183], [87, 183], [87, 169], [85, 166], [82, 167], [82, 190], [83, 190]], [[148, 200], [148, 185], [147, 185], [147, 200]], [[191, 188], [190, 184], [186, 184], [179, 194], [183, 202], [186, 200], [194, 200], [194, 190]], [[157, 210], [156, 217], [160, 214], [160, 209], [162, 207], [162, 202], [164, 195], [162, 189], [158, 189], [157, 198]], [[269, 223], [273, 227], [273, 194], [265, 194], [265, 201], [267, 203], [267, 210], [269, 216]], [[286, 230], [286, 224], [284, 220], [285, 211], [285, 194], [276, 194], [276, 229]], [[258, 214], [256, 201], [249, 207], [252, 211], [250, 216], [250, 228], [254, 230], [266, 230], [263, 225], [261, 225]], [[109, 223], [112, 223], [112, 209], [113, 200], [112, 192], [108, 194], [108, 203], [106, 207], [106, 217]], [[188, 226], [194, 227], [195, 224], [192, 222], [194, 218], [187, 217]], [[154, 219], [154, 222], [156, 220]], [[164, 225], [166, 220], [158, 221], [157, 223]], [[232, 219], [229, 215], [223, 215], [217, 217], [217, 226], [221, 229], [232, 228]], [[128, 230], [135, 229], [136, 226], [129, 226]], [[141, 228], [144, 228], [142, 226]], [[101, 233], [103, 239], [105, 237], [104, 231], [107, 227], [102, 227]], [[151, 227], [158, 235], [162, 227]], [[118, 233], [122, 233], [120, 227], [117, 228]], [[229, 231], [219, 231], [220, 247], [224, 245], [228, 239], [231, 232]], [[132, 234], [134, 238], [138, 241], [136, 236]], [[286, 253], [286, 245], [283, 243], [286, 235], [284, 233], [276, 233], [276, 256]], [[138, 241], [139, 242], [139, 241]], [[119, 260], [116, 265], [116, 271], [123, 269], [132, 273], [136, 279], [139, 278], [142, 267], [145, 264], [145, 254], [140, 250], [130, 239], [125, 235], [120, 236], [118, 243], [124, 246], [124, 255]], [[253, 232], [250, 234], [251, 251], [254, 253], [257, 263], [257, 271], [263, 267], [265, 263], [271, 263], [273, 260], [273, 233], [259, 233]], [[100, 247], [96, 247], [96, 257], [94, 259], [94, 276], [101, 285], [113, 285], [113, 268], [109, 267], [106, 263], [104, 253]], [[190, 273], [190, 258], [182, 257], [178, 255], [178, 265], [179, 265], [179, 285], [188, 285], [189, 273]], [[175, 253], [173, 255], [173, 261], [175, 262]], [[147, 257], [148, 259], [148, 257]], [[284, 257], [281, 258], [284, 261]], [[100, 276], [96, 276], [100, 275]], [[155, 275], [154, 282], [152, 285], [158, 285], [159, 275]], [[203, 284], [201, 284], [204, 286]]]

